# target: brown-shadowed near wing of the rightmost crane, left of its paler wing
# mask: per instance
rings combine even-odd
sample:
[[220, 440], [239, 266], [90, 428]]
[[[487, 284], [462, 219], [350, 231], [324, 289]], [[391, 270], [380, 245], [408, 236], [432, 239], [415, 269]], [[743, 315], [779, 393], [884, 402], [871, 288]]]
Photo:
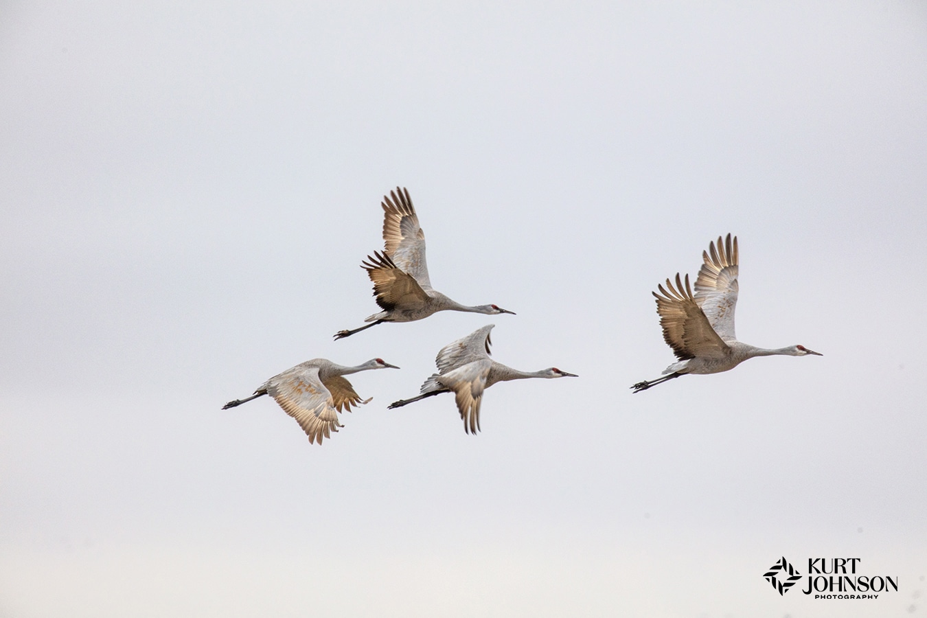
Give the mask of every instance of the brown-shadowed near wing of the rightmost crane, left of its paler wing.
[[679, 360], [695, 357], [721, 359], [727, 356], [730, 347], [717, 335], [705, 317], [705, 312], [695, 302], [689, 286], [689, 275], [686, 275], [686, 285], [683, 287], [677, 273], [676, 285], [679, 291], [667, 279], [669, 291], [659, 285], [660, 294], [654, 292], [656, 312], [660, 315], [660, 326], [663, 327], [663, 339], [667, 346], [673, 348]]

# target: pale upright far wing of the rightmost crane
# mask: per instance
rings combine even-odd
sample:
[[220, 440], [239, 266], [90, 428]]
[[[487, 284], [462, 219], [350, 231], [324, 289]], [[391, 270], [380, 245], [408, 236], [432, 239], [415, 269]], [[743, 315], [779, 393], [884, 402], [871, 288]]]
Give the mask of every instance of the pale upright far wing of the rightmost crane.
[[730, 233], [724, 243], [717, 237], [715, 243], [702, 252], [705, 264], [695, 280], [695, 302], [705, 312], [708, 323], [724, 341], [734, 341], [734, 309], [737, 308], [737, 273], [739, 270], [737, 256], [737, 236], [733, 242]]

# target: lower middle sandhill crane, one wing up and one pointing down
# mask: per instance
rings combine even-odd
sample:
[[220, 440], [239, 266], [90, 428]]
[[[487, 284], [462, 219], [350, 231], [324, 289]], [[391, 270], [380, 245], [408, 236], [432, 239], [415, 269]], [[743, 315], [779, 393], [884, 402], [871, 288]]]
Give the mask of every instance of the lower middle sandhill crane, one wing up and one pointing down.
[[442, 347], [435, 363], [438, 373], [425, 380], [421, 395], [411, 399], [400, 399], [389, 404], [389, 408], [400, 408], [406, 404], [453, 391], [457, 396], [457, 409], [464, 420], [464, 431], [476, 435], [479, 431], [479, 406], [483, 391], [497, 382], [520, 380], [522, 378], [578, 377], [575, 373], [562, 372], [556, 367], [540, 372], [519, 372], [489, 358], [489, 331], [493, 324], [466, 335]]

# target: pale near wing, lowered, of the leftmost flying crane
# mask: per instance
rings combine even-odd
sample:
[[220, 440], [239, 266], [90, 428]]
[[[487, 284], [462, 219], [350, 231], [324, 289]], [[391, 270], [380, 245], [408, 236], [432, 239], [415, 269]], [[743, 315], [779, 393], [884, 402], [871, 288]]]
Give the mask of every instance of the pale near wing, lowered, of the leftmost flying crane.
[[331, 392], [319, 380], [318, 367], [297, 365], [273, 376], [262, 388], [296, 419], [310, 443], [322, 444], [323, 437], [331, 437], [331, 432], [343, 426], [338, 423]]

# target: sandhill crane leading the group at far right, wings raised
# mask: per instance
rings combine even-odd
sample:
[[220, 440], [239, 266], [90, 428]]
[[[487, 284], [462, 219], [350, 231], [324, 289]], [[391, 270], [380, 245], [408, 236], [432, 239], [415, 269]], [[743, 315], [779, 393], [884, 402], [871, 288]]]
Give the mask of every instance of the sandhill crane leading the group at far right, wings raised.
[[686, 373], [726, 372], [755, 356], [824, 356], [804, 346], [765, 349], [738, 341], [734, 334], [738, 289], [737, 237], [734, 236], [731, 243], [729, 233], [722, 243], [718, 236], [717, 249], [715, 243], [711, 243], [708, 250], [710, 257], [708, 252], [702, 252], [705, 264], [695, 280], [694, 296], [689, 286], [689, 275], [686, 275], [683, 287], [678, 272], [676, 287], [667, 279], [667, 289], [658, 285], [660, 294], [653, 293], [660, 326], [663, 327], [663, 339], [673, 348], [679, 362], [667, 367], [663, 371], [664, 377], [631, 386], [635, 393]]

